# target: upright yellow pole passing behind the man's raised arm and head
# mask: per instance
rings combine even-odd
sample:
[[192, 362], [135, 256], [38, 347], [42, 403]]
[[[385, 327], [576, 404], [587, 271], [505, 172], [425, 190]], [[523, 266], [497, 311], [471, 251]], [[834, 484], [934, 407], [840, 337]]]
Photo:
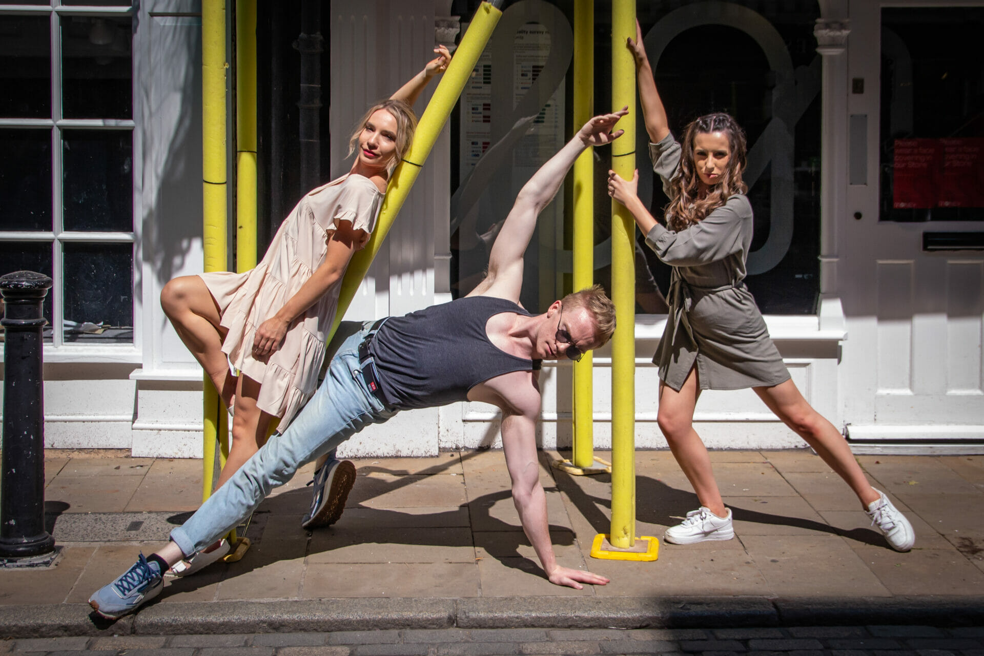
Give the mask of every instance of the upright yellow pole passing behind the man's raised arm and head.
[[[574, 3], [574, 129], [594, 116], [594, 0]], [[594, 282], [594, 149], [574, 162], [574, 288]], [[594, 457], [593, 359], [591, 351], [574, 363], [574, 453], [556, 460], [557, 469], [578, 476], [611, 471], [609, 462]], [[595, 461], [603, 467], [592, 466]]]

